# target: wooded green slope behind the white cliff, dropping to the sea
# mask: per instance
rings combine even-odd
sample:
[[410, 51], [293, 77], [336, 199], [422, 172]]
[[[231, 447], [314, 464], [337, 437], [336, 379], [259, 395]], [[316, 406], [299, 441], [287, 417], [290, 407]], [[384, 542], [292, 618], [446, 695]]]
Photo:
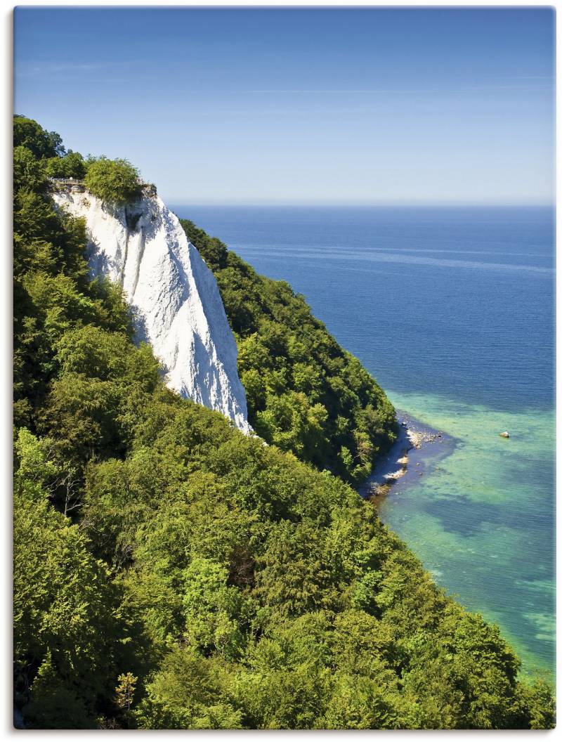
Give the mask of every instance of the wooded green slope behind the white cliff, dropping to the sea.
[[386, 394], [288, 283], [258, 275], [221, 240], [180, 222], [219, 284], [254, 430], [348, 482], [365, 479], [396, 439]]

